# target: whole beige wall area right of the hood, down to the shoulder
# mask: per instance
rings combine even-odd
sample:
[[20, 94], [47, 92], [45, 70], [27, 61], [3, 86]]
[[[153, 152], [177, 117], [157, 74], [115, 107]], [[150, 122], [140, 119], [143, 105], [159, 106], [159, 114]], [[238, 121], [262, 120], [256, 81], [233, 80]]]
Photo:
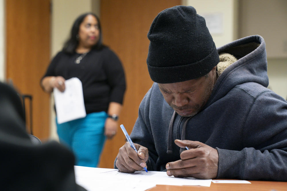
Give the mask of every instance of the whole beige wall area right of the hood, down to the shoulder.
[[287, 1], [241, 0], [239, 37], [261, 35], [266, 43], [269, 88], [287, 98]]

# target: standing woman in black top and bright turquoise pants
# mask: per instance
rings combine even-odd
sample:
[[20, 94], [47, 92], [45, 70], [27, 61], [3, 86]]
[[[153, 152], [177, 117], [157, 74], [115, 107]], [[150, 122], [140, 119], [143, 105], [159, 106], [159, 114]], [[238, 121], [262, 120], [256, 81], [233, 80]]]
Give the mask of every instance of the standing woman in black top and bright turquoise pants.
[[87, 116], [57, 123], [61, 143], [75, 153], [76, 165], [97, 167], [105, 136], [117, 133], [125, 93], [125, 74], [117, 55], [102, 44], [100, 21], [93, 13], [74, 22], [63, 50], [51, 61], [41, 80], [44, 91], [65, 90], [65, 80], [82, 82]]

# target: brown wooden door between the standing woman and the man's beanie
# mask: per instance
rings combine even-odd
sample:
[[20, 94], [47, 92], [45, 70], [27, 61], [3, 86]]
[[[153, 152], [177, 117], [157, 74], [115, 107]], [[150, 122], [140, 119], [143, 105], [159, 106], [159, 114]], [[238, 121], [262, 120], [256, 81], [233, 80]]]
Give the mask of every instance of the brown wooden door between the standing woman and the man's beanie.
[[[130, 134], [137, 119], [139, 104], [152, 85], [148, 74], [148, 31], [156, 15], [180, 0], [102, 0], [100, 18], [103, 42], [116, 52], [125, 69], [127, 91], [119, 124]], [[125, 143], [121, 129], [113, 140], [106, 141], [99, 167], [113, 168], [119, 148]]]

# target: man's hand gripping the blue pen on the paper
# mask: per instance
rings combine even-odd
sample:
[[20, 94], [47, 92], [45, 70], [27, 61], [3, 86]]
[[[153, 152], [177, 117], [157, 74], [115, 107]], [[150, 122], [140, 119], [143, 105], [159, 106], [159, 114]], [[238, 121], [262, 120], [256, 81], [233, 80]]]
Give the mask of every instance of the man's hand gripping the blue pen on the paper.
[[137, 170], [142, 170], [146, 166], [148, 160], [148, 149], [139, 144], [134, 144], [137, 149], [137, 153], [129, 142], [126, 142], [119, 149], [117, 155], [116, 166], [121, 172], [134, 173]]

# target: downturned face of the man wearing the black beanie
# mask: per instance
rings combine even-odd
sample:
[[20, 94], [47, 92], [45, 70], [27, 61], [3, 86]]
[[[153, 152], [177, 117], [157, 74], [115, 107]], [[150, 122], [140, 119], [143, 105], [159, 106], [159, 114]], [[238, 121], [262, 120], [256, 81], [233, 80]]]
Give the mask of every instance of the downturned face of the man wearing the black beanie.
[[190, 117], [206, 104], [216, 81], [216, 67], [208, 75], [178, 83], [159, 83], [165, 101], [179, 115]]

